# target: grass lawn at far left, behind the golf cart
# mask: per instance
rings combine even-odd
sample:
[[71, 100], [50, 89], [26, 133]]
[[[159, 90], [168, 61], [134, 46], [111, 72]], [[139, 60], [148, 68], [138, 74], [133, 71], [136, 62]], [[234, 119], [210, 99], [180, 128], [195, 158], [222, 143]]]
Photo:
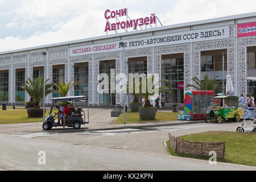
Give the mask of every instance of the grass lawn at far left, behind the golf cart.
[[[49, 110], [46, 111], [48, 116]], [[54, 113], [55, 111], [53, 111]], [[40, 122], [42, 118], [28, 118], [27, 110], [0, 110], [0, 125], [1, 124], [14, 124], [14, 123], [30, 123]]]

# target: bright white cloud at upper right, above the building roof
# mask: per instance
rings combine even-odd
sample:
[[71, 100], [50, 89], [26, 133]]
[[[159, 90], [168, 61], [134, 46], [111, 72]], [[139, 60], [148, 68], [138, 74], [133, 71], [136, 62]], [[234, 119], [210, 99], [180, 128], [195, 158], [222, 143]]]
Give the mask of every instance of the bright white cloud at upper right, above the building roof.
[[248, 0], [179, 0], [170, 11], [159, 14], [159, 19], [166, 26], [195, 20], [217, 18], [221, 16], [251, 13], [255, 11], [256, 1]]

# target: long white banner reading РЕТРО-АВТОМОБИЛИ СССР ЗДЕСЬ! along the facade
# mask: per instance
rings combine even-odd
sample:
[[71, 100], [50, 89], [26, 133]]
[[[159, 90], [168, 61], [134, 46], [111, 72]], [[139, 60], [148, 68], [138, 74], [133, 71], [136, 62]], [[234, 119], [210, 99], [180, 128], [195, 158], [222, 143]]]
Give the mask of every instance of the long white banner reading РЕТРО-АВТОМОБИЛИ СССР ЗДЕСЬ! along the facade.
[[122, 51], [123, 47], [119, 45], [120, 42], [125, 43], [125, 49], [129, 50], [228, 38], [230, 38], [229, 26], [213, 27], [201, 30], [176, 32], [172, 34], [164, 34], [158, 36], [148, 36], [145, 38], [123, 40], [118, 42], [92, 44], [91, 46], [80, 46], [70, 48], [70, 55], [80, 56], [94, 53]]

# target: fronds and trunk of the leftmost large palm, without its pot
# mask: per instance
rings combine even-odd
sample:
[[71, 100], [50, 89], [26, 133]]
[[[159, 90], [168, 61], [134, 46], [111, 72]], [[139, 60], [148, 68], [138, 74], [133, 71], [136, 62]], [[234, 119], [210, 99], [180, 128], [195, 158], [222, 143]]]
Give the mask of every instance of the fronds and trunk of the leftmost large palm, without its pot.
[[34, 102], [34, 108], [36, 109], [40, 108], [40, 101], [44, 97], [44, 84], [46, 85], [46, 96], [52, 93], [52, 84], [47, 84], [48, 81], [49, 79], [44, 83], [43, 77], [36, 79], [27, 78], [27, 81], [22, 86], [22, 88], [27, 91], [28, 95], [30, 95], [31, 100]]

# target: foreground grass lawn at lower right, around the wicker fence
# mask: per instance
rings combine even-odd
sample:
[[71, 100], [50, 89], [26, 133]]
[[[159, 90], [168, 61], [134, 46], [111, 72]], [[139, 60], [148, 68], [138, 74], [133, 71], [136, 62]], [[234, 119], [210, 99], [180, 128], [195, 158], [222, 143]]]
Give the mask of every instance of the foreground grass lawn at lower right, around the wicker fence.
[[[199, 142], [224, 142], [226, 141], [225, 159], [217, 159], [218, 162], [256, 166], [256, 133], [236, 133], [210, 131], [183, 136], [182, 138]], [[176, 154], [170, 147], [167, 147], [171, 155], [185, 158], [209, 160], [210, 156], [199, 157], [193, 155]]]

